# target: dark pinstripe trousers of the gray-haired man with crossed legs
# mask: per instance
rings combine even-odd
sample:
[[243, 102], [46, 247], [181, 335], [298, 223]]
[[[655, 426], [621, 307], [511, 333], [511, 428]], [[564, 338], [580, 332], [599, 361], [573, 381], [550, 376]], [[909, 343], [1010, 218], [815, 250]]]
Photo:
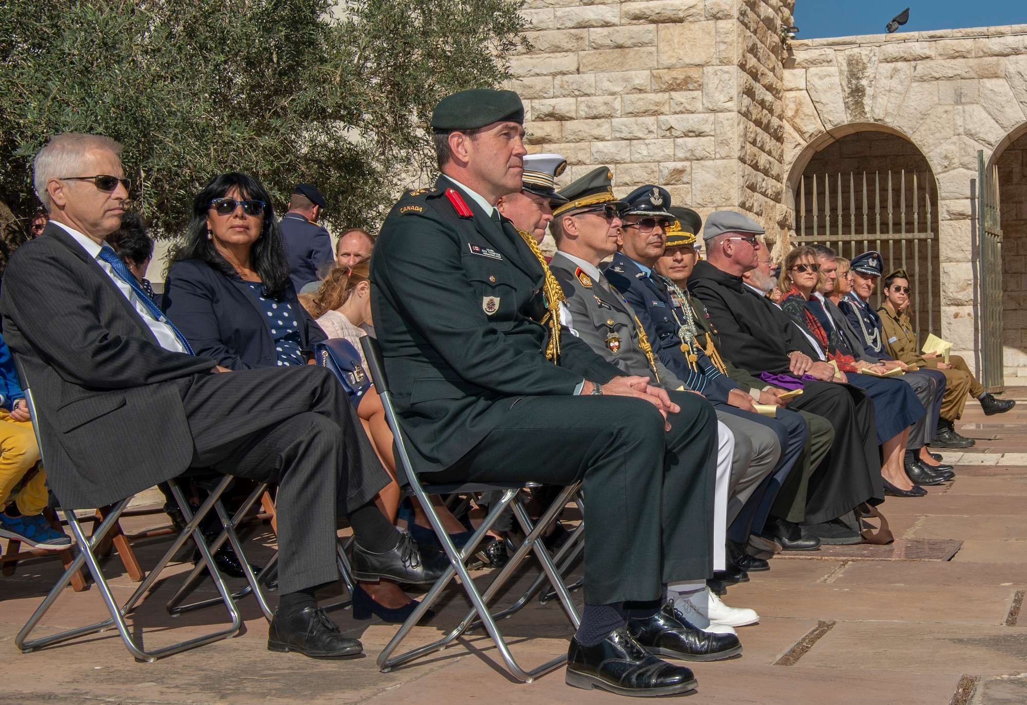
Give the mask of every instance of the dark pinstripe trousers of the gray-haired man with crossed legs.
[[304, 365], [180, 381], [193, 468], [278, 483], [278, 590], [339, 580], [337, 518], [389, 482], [331, 372]]

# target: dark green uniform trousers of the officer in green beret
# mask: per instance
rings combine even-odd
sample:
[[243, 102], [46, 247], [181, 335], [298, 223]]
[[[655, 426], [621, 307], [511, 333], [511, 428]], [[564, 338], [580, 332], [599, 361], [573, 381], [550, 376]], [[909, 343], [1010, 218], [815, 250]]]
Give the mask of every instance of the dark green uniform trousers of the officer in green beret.
[[517, 397], [482, 441], [429, 482], [541, 482], [584, 491], [584, 600], [654, 600], [713, 572], [717, 416], [671, 392], [663, 417], [631, 397]]

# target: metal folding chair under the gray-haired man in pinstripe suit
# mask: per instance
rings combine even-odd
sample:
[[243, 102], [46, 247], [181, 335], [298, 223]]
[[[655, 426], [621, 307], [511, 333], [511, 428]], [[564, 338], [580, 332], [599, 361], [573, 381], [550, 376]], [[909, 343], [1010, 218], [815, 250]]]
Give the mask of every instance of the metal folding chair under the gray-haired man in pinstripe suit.
[[[32, 395], [32, 388], [29, 384], [29, 380], [25, 375], [25, 370], [22, 367], [18, 357], [14, 356], [14, 367], [17, 371], [18, 380], [21, 381], [22, 387], [25, 389], [25, 398], [29, 405], [29, 413], [32, 416], [32, 425], [36, 433], [36, 442], [39, 444], [39, 451], [42, 454], [43, 442], [39, 434], [39, 415], [36, 410], [35, 400]], [[43, 467], [45, 467], [46, 460], [43, 458]], [[26, 623], [22, 631], [17, 633], [14, 637], [14, 645], [20, 648], [23, 653], [28, 654], [29, 652], [42, 648], [61, 641], [67, 641], [78, 636], [85, 634], [92, 634], [97, 632], [103, 632], [111, 627], [115, 627], [118, 630], [118, 634], [121, 636], [121, 640], [124, 642], [125, 647], [128, 653], [131, 654], [140, 661], [154, 662], [157, 659], [169, 656], [172, 654], [177, 654], [179, 652], [185, 651], [187, 648], [192, 648], [194, 646], [199, 646], [205, 643], [211, 643], [212, 641], [217, 641], [219, 639], [226, 639], [234, 636], [238, 633], [242, 626], [242, 619], [239, 616], [239, 611], [235, 606], [235, 602], [232, 600], [231, 594], [229, 593], [228, 587], [225, 585], [224, 580], [218, 572], [218, 568], [214, 562], [214, 558], [211, 551], [203, 539], [203, 532], [200, 530], [200, 522], [206, 517], [207, 513], [214, 509], [215, 505], [219, 503], [222, 492], [231, 483], [232, 478], [229, 476], [224, 477], [218, 486], [211, 492], [206, 500], [200, 506], [199, 510], [195, 514], [192, 513], [189, 503], [186, 500], [185, 495], [182, 493], [182, 489], [179, 487], [175, 480], [168, 480], [172, 492], [175, 495], [175, 499], [179, 505], [179, 510], [186, 519], [186, 526], [173, 542], [172, 546], [164, 553], [163, 557], [154, 568], [150, 571], [148, 576], [142, 581], [136, 591], [122, 605], [118, 605], [117, 601], [114, 599], [114, 595], [111, 593], [110, 586], [107, 584], [107, 579], [104, 576], [104, 570], [100, 565], [98, 559], [98, 551], [102, 546], [104, 540], [112, 531], [112, 529], [117, 525], [118, 519], [121, 517], [128, 505], [131, 496], [127, 496], [121, 499], [110, 509], [110, 512], [100, 523], [99, 527], [93, 528], [92, 534], [88, 537], [82, 530], [82, 525], [75, 516], [75, 511], [71, 509], [62, 508], [62, 512], [68, 521], [68, 526], [72, 530], [72, 534], [75, 536], [75, 542], [78, 546], [78, 555], [75, 560], [71, 562], [68, 568], [65, 570], [64, 574], [56, 582], [56, 585], [50, 590], [43, 600], [42, 604], [33, 613], [32, 617]], [[60, 497], [59, 497], [60, 499]], [[161, 571], [172, 560], [179, 549], [190, 539], [196, 543], [196, 547], [199, 549], [201, 564], [205, 565], [214, 583], [218, 588], [218, 592], [221, 593], [221, 601], [224, 603], [225, 607], [228, 609], [229, 617], [231, 618], [231, 624], [228, 628], [222, 629], [211, 634], [205, 634], [203, 636], [197, 636], [179, 643], [175, 643], [168, 646], [162, 646], [160, 648], [155, 648], [152, 651], [146, 651], [142, 644], [142, 641], [137, 643], [136, 639], [131, 636], [128, 631], [128, 626], [125, 624], [125, 615], [130, 613], [136, 604], [143, 598], [143, 596], [149, 591], [149, 589], [156, 582], [157, 578], [160, 576]], [[100, 593], [104, 599], [104, 603], [107, 606], [107, 610], [110, 617], [96, 624], [87, 625], [85, 627], [78, 627], [75, 629], [69, 629], [62, 631], [56, 634], [50, 634], [38, 639], [29, 640], [29, 635], [35, 629], [36, 625], [39, 624], [40, 620], [46, 611], [52, 606], [53, 602], [64, 591], [65, 587], [71, 583], [72, 579], [78, 574], [82, 565], [85, 564], [89, 568], [89, 572], [92, 574], [92, 579], [100, 590]]]

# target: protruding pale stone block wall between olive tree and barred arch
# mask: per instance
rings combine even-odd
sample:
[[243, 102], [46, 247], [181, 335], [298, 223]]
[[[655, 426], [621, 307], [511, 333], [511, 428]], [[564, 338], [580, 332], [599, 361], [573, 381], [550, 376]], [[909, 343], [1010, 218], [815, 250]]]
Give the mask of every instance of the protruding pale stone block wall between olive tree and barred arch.
[[528, 0], [509, 58], [529, 151], [565, 185], [597, 165], [624, 195], [652, 183], [706, 216], [749, 212], [771, 237], [785, 166], [779, 28], [794, 0]]

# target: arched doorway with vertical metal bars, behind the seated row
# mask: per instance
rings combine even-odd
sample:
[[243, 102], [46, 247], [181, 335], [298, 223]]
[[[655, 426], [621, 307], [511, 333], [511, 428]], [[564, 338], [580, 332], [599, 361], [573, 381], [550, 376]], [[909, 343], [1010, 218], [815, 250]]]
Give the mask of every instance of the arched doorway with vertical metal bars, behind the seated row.
[[[922, 341], [941, 335], [938, 185], [926, 157], [895, 129], [846, 125], [809, 143], [789, 177], [793, 244], [820, 243], [851, 259], [881, 253], [884, 272], [910, 274], [910, 319]], [[801, 170], [801, 171], [800, 171]], [[871, 302], [879, 303], [879, 292]]]

